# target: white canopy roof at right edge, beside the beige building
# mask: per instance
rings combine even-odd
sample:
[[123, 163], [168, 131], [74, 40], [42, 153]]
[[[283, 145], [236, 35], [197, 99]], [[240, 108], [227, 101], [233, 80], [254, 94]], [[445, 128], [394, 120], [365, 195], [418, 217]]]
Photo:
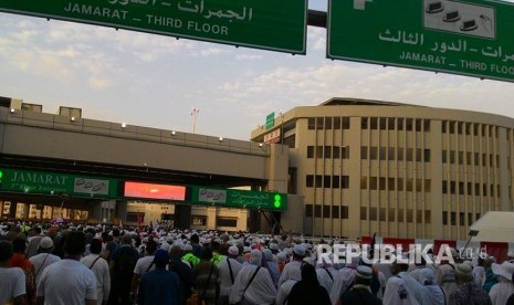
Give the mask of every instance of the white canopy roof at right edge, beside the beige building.
[[514, 243], [514, 212], [486, 212], [470, 230], [479, 231], [475, 241]]

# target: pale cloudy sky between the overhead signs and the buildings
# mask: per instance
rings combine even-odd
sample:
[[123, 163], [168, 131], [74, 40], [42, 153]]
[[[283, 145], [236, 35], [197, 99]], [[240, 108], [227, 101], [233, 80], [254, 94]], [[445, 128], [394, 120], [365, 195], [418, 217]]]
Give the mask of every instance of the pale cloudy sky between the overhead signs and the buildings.
[[0, 96], [45, 113], [80, 107], [85, 118], [187, 133], [197, 107], [198, 134], [237, 139], [272, 112], [335, 96], [514, 117], [513, 83], [331, 61], [326, 30], [307, 30], [307, 55], [291, 55], [0, 13]]

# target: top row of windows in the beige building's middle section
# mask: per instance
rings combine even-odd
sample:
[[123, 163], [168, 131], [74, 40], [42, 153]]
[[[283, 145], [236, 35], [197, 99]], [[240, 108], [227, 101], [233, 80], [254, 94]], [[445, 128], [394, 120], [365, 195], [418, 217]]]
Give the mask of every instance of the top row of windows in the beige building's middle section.
[[430, 132], [430, 120], [405, 117], [363, 117], [363, 129]]

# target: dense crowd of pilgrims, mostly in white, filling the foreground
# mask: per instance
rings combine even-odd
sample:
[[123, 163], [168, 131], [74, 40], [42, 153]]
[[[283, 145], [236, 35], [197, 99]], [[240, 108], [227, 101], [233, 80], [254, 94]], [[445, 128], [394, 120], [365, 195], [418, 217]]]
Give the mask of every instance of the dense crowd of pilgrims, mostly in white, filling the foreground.
[[0, 304], [514, 304], [513, 253], [504, 262], [318, 262], [318, 244], [338, 242], [8, 223], [0, 225]]

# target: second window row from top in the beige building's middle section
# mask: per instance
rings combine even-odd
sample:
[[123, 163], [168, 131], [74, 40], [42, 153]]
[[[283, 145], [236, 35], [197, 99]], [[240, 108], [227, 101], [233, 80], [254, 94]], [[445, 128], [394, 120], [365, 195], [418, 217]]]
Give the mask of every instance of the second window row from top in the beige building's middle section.
[[389, 161], [421, 161], [430, 162], [430, 149], [423, 148], [401, 148], [401, 147], [376, 147], [361, 146], [360, 159], [367, 160], [389, 160]]

